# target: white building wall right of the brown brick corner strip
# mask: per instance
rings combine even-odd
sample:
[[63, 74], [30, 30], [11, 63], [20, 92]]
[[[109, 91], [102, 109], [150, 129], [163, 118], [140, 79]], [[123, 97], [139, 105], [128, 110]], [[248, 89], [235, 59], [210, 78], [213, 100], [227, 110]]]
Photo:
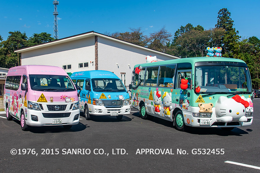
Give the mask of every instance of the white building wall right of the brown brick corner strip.
[[[158, 61], [172, 59], [166, 55], [98, 37], [99, 70], [114, 72], [119, 78], [120, 72], [125, 72], [126, 86], [131, 83], [134, 66], [136, 64], [146, 63], [145, 58], [147, 55], [156, 56]], [[116, 65], [116, 63], [118, 63], [118, 65]], [[128, 64], [130, 64], [130, 67]]]

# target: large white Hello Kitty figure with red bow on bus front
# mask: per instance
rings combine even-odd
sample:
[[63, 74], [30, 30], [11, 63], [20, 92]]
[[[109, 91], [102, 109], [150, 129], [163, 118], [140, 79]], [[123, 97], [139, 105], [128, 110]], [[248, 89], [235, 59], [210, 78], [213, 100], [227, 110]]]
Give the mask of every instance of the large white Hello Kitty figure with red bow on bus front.
[[248, 106], [248, 101], [242, 99], [239, 95], [232, 98], [220, 96], [215, 106], [216, 120], [224, 123], [233, 120], [246, 122], [245, 115]]

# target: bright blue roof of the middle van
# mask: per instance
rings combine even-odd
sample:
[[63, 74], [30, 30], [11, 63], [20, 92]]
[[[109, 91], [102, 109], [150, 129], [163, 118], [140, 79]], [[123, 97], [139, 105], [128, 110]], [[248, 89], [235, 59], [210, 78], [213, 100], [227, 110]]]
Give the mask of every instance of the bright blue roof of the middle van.
[[105, 70], [90, 70], [74, 72], [70, 78], [116, 78], [119, 79], [114, 73]]

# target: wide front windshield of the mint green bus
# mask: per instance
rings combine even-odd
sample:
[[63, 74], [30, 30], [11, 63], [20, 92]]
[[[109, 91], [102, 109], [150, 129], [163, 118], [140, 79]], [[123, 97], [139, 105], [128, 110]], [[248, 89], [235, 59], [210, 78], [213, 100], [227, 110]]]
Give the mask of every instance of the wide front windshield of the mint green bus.
[[200, 93], [250, 94], [251, 80], [247, 67], [196, 66], [195, 83]]

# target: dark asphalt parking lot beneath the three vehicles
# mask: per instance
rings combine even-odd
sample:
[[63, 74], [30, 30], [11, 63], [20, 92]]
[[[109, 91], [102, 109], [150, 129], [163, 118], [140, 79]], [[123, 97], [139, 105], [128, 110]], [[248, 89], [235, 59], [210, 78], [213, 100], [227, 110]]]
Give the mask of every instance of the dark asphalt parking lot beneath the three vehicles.
[[[55, 126], [22, 131], [19, 121], [7, 121], [1, 114], [0, 172], [259, 172], [259, 103], [253, 99], [253, 124], [232, 131], [181, 132], [159, 118], [143, 120], [134, 109], [122, 120], [86, 120], [81, 114], [80, 123], [69, 130]], [[217, 149], [224, 153], [217, 154]]]

